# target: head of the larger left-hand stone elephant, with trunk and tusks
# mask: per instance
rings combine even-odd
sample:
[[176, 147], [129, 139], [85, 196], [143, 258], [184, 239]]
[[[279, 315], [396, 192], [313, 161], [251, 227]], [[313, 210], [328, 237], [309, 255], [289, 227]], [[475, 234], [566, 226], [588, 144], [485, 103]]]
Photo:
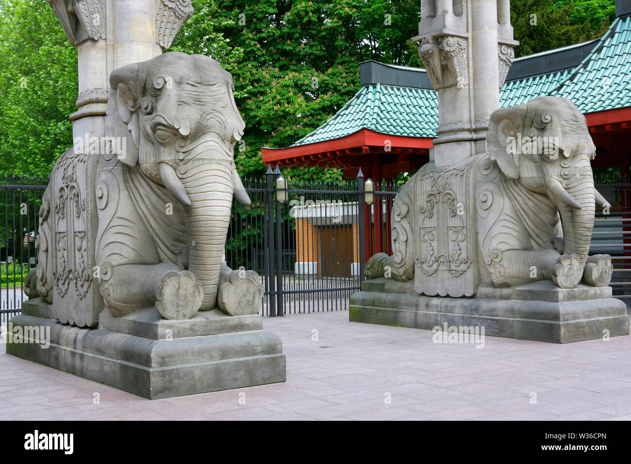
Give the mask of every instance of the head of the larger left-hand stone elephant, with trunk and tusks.
[[120, 162], [181, 203], [201, 309], [215, 306], [232, 198], [250, 204], [233, 160], [244, 128], [232, 76], [209, 57], [168, 52], [110, 74], [107, 133], [131, 136]]

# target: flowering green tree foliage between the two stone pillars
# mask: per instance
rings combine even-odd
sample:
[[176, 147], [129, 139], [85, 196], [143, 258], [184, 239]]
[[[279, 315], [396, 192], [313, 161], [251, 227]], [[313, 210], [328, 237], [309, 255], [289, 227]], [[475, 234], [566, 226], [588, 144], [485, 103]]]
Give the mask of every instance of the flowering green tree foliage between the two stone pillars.
[[[259, 174], [262, 146], [291, 145], [355, 95], [360, 61], [418, 65], [417, 3], [198, 0], [172, 49], [211, 52], [233, 74], [247, 126], [235, 159], [243, 174]], [[288, 172], [298, 174], [341, 180], [337, 169]]]

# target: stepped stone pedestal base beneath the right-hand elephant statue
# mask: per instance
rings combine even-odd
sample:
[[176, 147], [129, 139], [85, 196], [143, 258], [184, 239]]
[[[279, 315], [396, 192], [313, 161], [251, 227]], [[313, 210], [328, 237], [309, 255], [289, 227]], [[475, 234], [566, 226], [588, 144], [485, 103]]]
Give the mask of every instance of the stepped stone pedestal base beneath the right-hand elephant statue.
[[509, 289], [481, 288], [476, 298], [428, 297], [414, 282], [377, 278], [351, 297], [350, 321], [432, 330], [484, 326], [485, 335], [570, 343], [629, 335], [627, 306], [611, 287], [558, 289], [541, 281]]

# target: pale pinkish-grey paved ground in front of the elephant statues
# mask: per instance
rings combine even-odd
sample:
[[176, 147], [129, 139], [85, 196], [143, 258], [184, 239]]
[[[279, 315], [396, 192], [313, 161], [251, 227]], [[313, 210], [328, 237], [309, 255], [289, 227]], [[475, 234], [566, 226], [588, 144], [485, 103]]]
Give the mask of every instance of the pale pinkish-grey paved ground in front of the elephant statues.
[[[145, 400], [0, 354], [0, 419], [628, 419], [631, 336], [552, 345], [348, 322], [348, 312], [265, 319], [287, 382]], [[317, 340], [312, 340], [317, 330]], [[100, 404], [94, 404], [95, 393]], [[531, 398], [536, 394], [536, 404]], [[390, 403], [386, 403], [389, 398]], [[241, 400], [241, 402], [240, 402]], [[245, 402], [243, 402], [245, 400]], [[625, 417], [627, 416], [627, 417]]]

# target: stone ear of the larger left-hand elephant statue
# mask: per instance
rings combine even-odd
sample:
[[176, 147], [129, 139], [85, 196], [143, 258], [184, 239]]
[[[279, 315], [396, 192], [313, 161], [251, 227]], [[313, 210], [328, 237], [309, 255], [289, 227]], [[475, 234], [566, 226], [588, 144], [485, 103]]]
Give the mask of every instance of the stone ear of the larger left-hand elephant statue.
[[144, 86], [144, 73], [140, 64], [128, 64], [114, 69], [110, 74], [110, 89], [107, 95], [107, 136], [126, 138], [126, 152], [119, 155], [124, 164], [138, 164], [138, 148], [140, 146], [141, 92]]

